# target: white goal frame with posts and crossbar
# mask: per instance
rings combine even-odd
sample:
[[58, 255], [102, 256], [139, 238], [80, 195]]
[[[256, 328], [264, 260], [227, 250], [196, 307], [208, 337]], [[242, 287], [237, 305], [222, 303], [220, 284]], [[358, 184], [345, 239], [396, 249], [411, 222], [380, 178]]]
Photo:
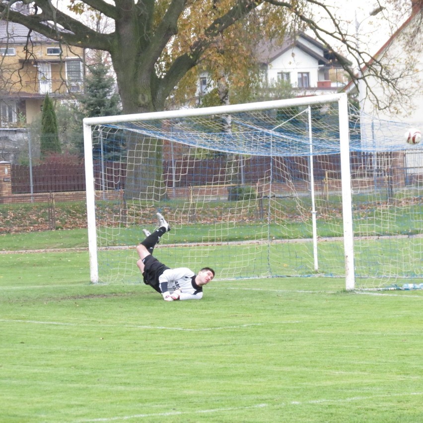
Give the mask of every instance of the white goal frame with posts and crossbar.
[[[270, 129], [266, 129], [266, 128], [262, 128], [262, 127], [257, 127], [260, 125], [261, 121], [264, 121], [263, 119], [259, 119], [259, 123], [257, 123], [256, 121], [251, 121], [251, 122], [247, 122], [247, 123], [243, 123], [242, 125], [240, 124], [240, 120], [237, 120], [237, 116], [238, 115], [242, 115], [242, 114], [250, 114], [250, 113], [255, 113], [255, 112], [261, 112], [263, 113], [263, 116], [267, 114], [270, 114], [269, 112], [266, 111], [278, 111], [278, 110], [290, 110], [290, 109], [295, 109], [295, 110], [303, 110], [305, 108], [310, 108], [310, 106], [320, 106], [320, 105], [328, 105], [328, 104], [335, 104], [336, 107], [335, 109], [337, 109], [337, 119], [334, 121], [336, 121], [336, 123], [334, 124], [334, 131], [339, 134], [338, 135], [338, 140], [336, 141], [338, 143], [337, 146], [335, 146], [335, 148], [339, 148], [339, 152], [340, 152], [340, 171], [341, 171], [341, 189], [342, 189], [342, 222], [343, 222], [343, 227], [342, 227], [342, 236], [340, 236], [339, 238], [342, 238], [343, 240], [343, 250], [344, 250], [344, 265], [345, 265], [345, 280], [346, 280], [346, 289], [347, 290], [352, 290], [354, 289], [355, 286], [355, 278], [354, 278], [354, 254], [353, 254], [353, 249], [354, 249], [354, 245], [353, 245], [353, 228], [352, 228], [352, 188], [351, 188], [351, 171], [350, 171], [350, 147], [349, 147], [349, 111], [348, 111], [348, 101], [347, 101], [347, 94], [343, 93], [343, 94], [333, 94], [333, 95], [321, 95], [321, 96], [314, 96], [314, 97], [303, 97], [303, 98], [292, 98], [292, 99], [286, 99], [286, 100], [275, 100], [275, 101], [266, 101], [266, 102], [259, 102], [259, 103], [248, 103], [248, 104], [237, 104], [237, 105], [229, 105], [229, 106], [220, 106], [220, 107], [208, 107], [208, 108], [198, 108], [198, 109], [180, 109], [180, 110], [173, 110], [173, 111], [165, 111], [165, 112], [155, 112], [155, 113], [142, 113], [142, 114], [132, 114], [132, 115], [121, 115], [121, 116], [108, 116], [108, 117], [98, 117], [98, 118], [85, 118], [83, 120], [83, 131], [84, 131], [84, 152], [85, 152], [85, 178], [86, 178], [86, 201], [87, 201], [87, 220], [88, 220], [88, 243], [89, 243], [89, 261], [90, 261], [90, 279], [91, 282], [93, 283], [97, 283], [99, 281], [107, 281], [107, 278], [103, 278], [101, 275], [99, 275], [99, 264], [98, 264], [98, 252], [100, 250], [103, 249], [123, 249], [125, 248], [125, 246], [122, 245], [110, 245], [110, 247], [108, 247], [107, 245], [101, 245], [99, 246], [98, 244], [98, 240], [99, 237], [102, 236], [101, 234], [105, 231], [103, 231], [101, 228], [99, 229], [98, 227], [98, 216], [96, 216], [96, 214], [98, 213], [98, 208], [96, 207], [96, 199], [99, 198], [99, 196], [101, 195], [105, 195], [105, 190], [104, 190], [104, 186], [102, 188], [98, 188], [99, 185], [99, 178], [103, 178], [103, 176], [97, 176], [95, 177], [94, 175], [94, 156], [93, 156], [93, 149], [96, 151], [96, 154], [100, 157], [101, 155], [101, 171], [100, 171], [100, 175], [104, 174], [104, 148], [103, 148], [103, 133], [109, 131], [109, 128], [114, 128], [114, 130], [116, 128], [124, 128], [126, 132], [131, 132], [131, 131], [135, 131], [138, 134], [142, 134], [142, 136], [145, 136], [145, 134], [151, 134], [151, 129], [140, 129], [142, 127], [143, 124], [148, 124], [149, 122], [157, 122], [160, 121], [162, 123], [168, 123], [168, 122], [173, 122], [173, 128], [176, 128], [180, 122], [184, 121], [185, 119], [199, 119], [202, 117], [211, 117], [211, 116], [220, 116], [220, 117], [224, 117], [224, 119], [226, 119], [226, 121], [231, 121], [230, 125], [234, 124], [237, 125], [237, 129], [233, 129], [230, 130], [229, 132], [227, 132], [227, 134], [230, 133], [230, 137], [231, 140], [234, 138], [234, 134], [238, 135], [241, 131], [241, 126], [243, 128], [248, 127], [248, 134], [251, 134], [252, 137], [261, 137], [262, 141], [258, 141], [260, 144], [263, 145], [267, 145], [269, 143], [274, 142], [275, 140], [278, 141], [278, 137], [285, 137], [283, 130], [281, 130], [282, 124], [283, 122], [281, 122], [280, 125], [274, 126]], [[272, 112], [273, 113], [273, 112]], [[227, 119], [227, 117], [229, 117], [229, 119]], [[285, 121], [289, 121], [290, 119], [286, 119]], [[315, 182], [313, 179], [313, 134], [312, 134], [312, 128], [311, 128], [311, 119], [310, 119], [310, 111], [309, 111], [309, 117], [308, 119], [305, 119], [306, 122], [306, 126], [308, 125], [308, 128], [305, 136], [307, 138], [309, 138], [309, 140], [307, 141], [309, 147], [304, 148], [303, 146], [301, 147], [302, 149], [304, 149], [304, 156], [306, 156], [308, 158], [308, 163], [309, 163], [309, 169], [307, 170], [309, 177], [307, 179], [304, 178], [305, 180], [308, 180], [308, 183], [310, 184], [310, 180], [311, 180], [311, 197], [313, 199], [313, 210], [311, 211], [311, 214], [313, 215], [313, 230], [312, 230], [312, 237], [314, 238], [314, 256], [315, 256], [315, 267], [317, 267], [317, 257], [316, 257], [316, 246], [317, 246], [317, 232], [316, 232], [316, 227], [315, 227], [315, 222], [316, 222], [316, 211], [314, 209], [314, 186], [315, 186]], [[141, 125], [140, 127], [138, 125]], [[292, 125], [291, 125], [292, 126]], [[106, 128], [106, 130], [102, 130], [101, 128]], [[292, 126], [293, 128], [293, 126]], [[323, 125], [322, 125], [323, 128]], [[172, 133], [175, 133], [175, 129], [172, 129]], [[182, 131], [182, 130], [181, 130]], [[187, 133], [186, 130], [184, 131], [184, 136]], [[324, 129], [320, 130], [325, 131]], [[100, 141], [93, 141], [93, 133], [96, 133], [96, 137], [97, 139], [100, 138]], [[224, 132], [220, 129], [220, 132]], [[247, 134], [246, 132], [246, 134]], [[98, 134], [100, 134], [100, 137], [98, 137]], [[206, 134], [208, 138], [212, 138], [212, 137], [216, 137], [215, 133], [213, 131], [210, 131], [209, 129], [207, 129]], [[243, 135], [243, 139], [242, 139], [242, 143], [246, 144], [248, 143], [248, 141], [246, 141], [245, 137], [248, 136], [247, 135]], [[302, 133], [301, 133], [302, 134]], [[149, 135], [150, 136], [150, 135]], [[172, 137], [169, 135], [165, 135], [163, 136], [163, 130], [160, 129], [158, 134], [153, 134], [152, 137], [159, 139], [160, 137], [166, 138], [168, 140], [171, 140], [171, 142], [173, 142]], [[197, 133], [193, 133], [191, 135], [191, 137], [194, 139], [193, 142], [195, 142], [195, 138], [199, 137]], [[298, 138], [299, 141], [302, 140], [301, 137], [303, 137], [303, 135], [297, 135], [296, 136]], [[225, 135], [223, 135], [223, 139], [225, 138]], [[184, 138], [181, 137], [181, 133], [177, 133], [175, 136], [176, 142], [181, 142], [182, 145], [188, 144], [192, 141], [185, 141]], [[200, 139], [200, 137], [199, 137]], [[219, 139], [220, 139], [220, 135], [219, 135]], [[294, 138], [294, 140], [296, 141], [296, 139]], [[93, 145], [98, 142], [98, 145], [100, 145], [100, 147], [93, 147]], [[220, 142], [220, 141], [219, 141]], [[278, 141], [279, 142], [279, 141]], [[287, 141], [288, 142], [288, 141]], [[292, 142], [291, 139], [289, 139], [289, 142]], [[288, 142], [288, 143], [289, 143]], [[334, 141], [329, 141], [332, 143], [336, 143]], [[223, 144], [227, 143], [225, 140], [223, 140]], [[173, 154], [173, 143], [171, 145], [172, 147], [172, 154]], [[181, 147], [182, 148], [182, 147]], [[198, 148], [205, 148], [205, 143], [204, 142], [199, 142]], [[214, 147], [212, 146], [210, 148], [210, 151], [216, 151], [219, 150], [220, 147]], [[262, 146], [260, 146], [260, 148], [262, 148]], [[101, 154], [98, 152], [101, 149]], [[125, 154], [127, 154], [129, 156], [129, 148], [127, 148], [125, 150]], [[198, 149], [196, 150], [198, 151]], [[232, 150], [231, 150], [232, 151]], [[240, 152], [245, 153], [245, 148], [242, 147]], [[248, 150], [247, 150], [248, 152]], [[198, 152], [196, 153], [197, 155], [199, 154]], [[251, 155], [254, 154], [253, 151], [251, 151], [250, 153]], [[274, 154], [273, 152], [269, 151], [269, 153], [266, 152], [262, 152], [262, 150], [260, 150], [260, 154], [263, 156], [266, 155], [272, 155]], [[280, 155], [281, 152], [277, 152], [275, 154]], [[296, 154], [296, 153], [295, 153]], [[301, 153], [302, 154], [302, 153]], [[242, 157], [247, 157], [248, 159], [250, 158], [250, 155], [246, 155], [244, 154]], [[115, 159], [116, 161], [119, 161], [120, 163], [128, 161], [128, 157], [126, 157], [125, 159], [120, 158], [120, 159]], [[185, 159], [184, 159], [185, 160]], [[311, 162], [310, 162], [311, 160]], [[227, 165], [227, 164], [226, 164]], [[128, 166], [126, 164], [126, 166]], [[297, 166], [298, 167], [298, 166]], [[297, 168], [296, 167], [296, 168]], [[173, 166], [173, 172], [175, 173], [175, 166]], [[311, 170], [311, 175], [310, 175], [310, 170]], [[232, 169], [233, 172], [233, 169]], [[289, 172], [293, 172], [292, 171], [288, 171]], [[328, 172], [326, 172], [328, 173]], [[175, 176], [175, 175], [173, 175]], [[242, 176], [242, 175], [241, 175]], [[266, 177], [267, 179], [265, 180], [265, 182], [263, 182], [264, 184], [267, 184], [269, 178]], [[285, 181], [286, 182], [286, 181]], [[230, 184], [227, 183], [227, 180], [225, 181], [225, 184], [227, 186], [230, 186]], [[257, 182], [257, 186], [259, 186], [261, 184], [261, 182]], [[289, 182], [290, 185], [293, 185], [293, 183]], [[102, 183], [100, 185], [103, 185]], [[327, 184], [326, 184], [327, 185]], [[175, 187], [175, 182], [173, 182], [173, 187]], [[218, 190], [218, 184], [213, 184], [212, 187], [215, 188], [216, 190]], [[230, 188], [227, 188], [230, 189]], [[175, 190], [175, 188], [173, 188], [173, 190]], [[191, 200], [193, 200], [193, 187], [190, 185], [189, 188], [187, 188], [187, 190], [190, 190], [191, 192]], [[211, 189], [210, 189], [211, 190]], [[209, 191], [210, 191], [209, 190]], [[109, 194], [110, 190], [107, 190], [107, 193]], [[116, 189], [114, 191], [117, 191]], [[122, 190], [121, 190], [122, 191]], [[188, 192], [188, 191], [187, 191]], [[211, 191], [210, 191], [211, 192]], [[254, 201], [256, 202], [256, 206], [254, 207], [258, 207], [258, 194], [254, 194]], [[268, 195], [263, 196], [263, 198], [266, 198], [266, 200], [271, 201], [271, 198], [282, 198], [282, 197], [289, 197], [291, 198], [300, 198], [301, 195], [297, 196], [297, 194], [292, 194], [290, 196], [283, 196], [283, 195], [275, 195], [274, 192], [269, 192]], [[106, 198], [106, 197], [104, 197]], [[246, 198], [246, 197], [245, 197]], [[283, 200], [281, 200], [283, 201]], [[125, 200], [124, 200], [125, 202]], [[241, 203], [241, 202], [240, 202]], [[142, 206], [141, 206], [142, 207]], [[239, 207], [239, 206], [237, 206]], [[247, 210], [247, 208], [251, 208], [251, 204], [248, 206], [245, 206], [245, 210]], [[262, 204], [260, 205], [260, 207], [262, 207]], [[302, 209], [304, 209], [304, 207], [302, 207]], [[185, 213], [185, 212], [183, 212]], [[270, 206], [269, 206], [269, 210], [268, 210], [269, 215], [272, 214], [272, 211], [270, 210]], [[120, 212], [120, 214], [122, 214], [122, 211]], [[176, 216], [176, 214], [175, 214]], [[261, 217], [263, 217], [263, 212], [261, 212]], [[273, 219], [276, 219], [276, 217], [274, 217]], [[106, 219], [107, 220], [107, 219]], [[128, 211], [125, 211], [125, 221], [120, 221], [118, 223], [113, 222], [113, 225], [115, 227], [118, 226], [124, 226], [127, 225], [128, 226]], [[105, 224], [105, 226], [107, 226], [107, 223]], [[232, 227], [232, 225], [231, 225]], [[221, 226], [219, 226], [219, 231], [222, 232], [221, 230]], [[105, 235], [103, 238], [107, 238], [108, 235]], [[269, 235], [266, 234], [266, 236], [268, 238]], [[264, 236], [264, 238], [266, 238], [266, 236]], [[209, 238], [208, 238], [209, 240]], [[219, 238], [219, 240], [222, 242], [224, 241], [223, 238]], [[283, 240], [282, 240], [283, 242]], [[207, 242], [205, 243], [206, 246], [210, 246], [212, 244], [212, 242]], [[130, 245], [126, 246], [127, 248], [130, 248]], [[255, 259], [254, 259], [255, 260]], [[125, 261], [125, 260], [124, 260]], [[286, 265], [284, 264], [283, 266], [289, 267], [289, 264]], [[273, 275], [271, 276], [275, 276], [277, 275], [278, 272], [274, 272]], [[229, 275], [228, 275], [229, 276]], [[260, 276], [260, 274], [258, 274], [257, 276]], [[266, 276], [266, 275], [264, 275]], [[269, 275], [268, 275], [269, 276]], [[242, 275], [241, 275], [242, 277]]]

